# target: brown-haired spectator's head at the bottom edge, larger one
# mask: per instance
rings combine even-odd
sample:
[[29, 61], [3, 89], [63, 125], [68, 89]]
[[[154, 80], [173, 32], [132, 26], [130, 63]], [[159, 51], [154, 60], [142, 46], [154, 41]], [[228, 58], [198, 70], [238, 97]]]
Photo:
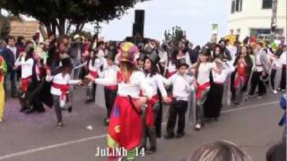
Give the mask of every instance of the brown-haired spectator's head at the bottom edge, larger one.
[[251, 158], [235, 144], [220, 140], [196, 148], [187, 161], [251, 161]]

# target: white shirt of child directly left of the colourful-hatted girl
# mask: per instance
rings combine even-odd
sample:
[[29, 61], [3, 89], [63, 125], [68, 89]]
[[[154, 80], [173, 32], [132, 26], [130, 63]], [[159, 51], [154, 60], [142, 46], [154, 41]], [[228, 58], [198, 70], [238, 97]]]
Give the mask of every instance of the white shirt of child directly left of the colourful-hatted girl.
[[99, 79], [95, 82], [104, 86], [116, 86], [117, 85], [117, 72], [119, 68], [116, 65], [108, 66], [104, 72], [98, 71]]

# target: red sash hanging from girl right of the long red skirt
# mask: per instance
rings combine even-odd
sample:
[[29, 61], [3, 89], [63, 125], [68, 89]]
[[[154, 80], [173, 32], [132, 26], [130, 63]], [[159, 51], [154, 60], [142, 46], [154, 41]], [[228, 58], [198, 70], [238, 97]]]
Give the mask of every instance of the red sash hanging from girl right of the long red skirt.
[[148, 127], [152, 127], [154, 125], [154, 117], [153, 117], [153, 106], [159, 101], [159, 96], [154, 95], [151, 99], [147, 101], [147, 107], [145, 112], [145, 124]]

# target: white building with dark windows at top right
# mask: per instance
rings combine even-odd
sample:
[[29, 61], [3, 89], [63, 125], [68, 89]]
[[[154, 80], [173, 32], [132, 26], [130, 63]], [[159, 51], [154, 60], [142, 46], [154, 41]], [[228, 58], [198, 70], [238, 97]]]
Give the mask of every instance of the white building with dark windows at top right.
[[[277, 0], [276, 38], [286, 37], [286, 0]], [[230, 0], [229, 34], [268, 39], [273, 0]]]

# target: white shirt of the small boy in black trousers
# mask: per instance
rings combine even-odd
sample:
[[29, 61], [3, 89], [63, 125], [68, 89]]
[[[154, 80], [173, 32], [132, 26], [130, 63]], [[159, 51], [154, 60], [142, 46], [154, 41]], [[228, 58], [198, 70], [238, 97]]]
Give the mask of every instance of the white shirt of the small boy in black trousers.
[[167, 85], [172, 85], [172, 96], [178, 100], [186, 100], [191, 91], [195, 89], [192, 85], [195, 78], [189, 75], [179, 75], [178, 73], [172, 75], [168, 80], [165, 80]]

